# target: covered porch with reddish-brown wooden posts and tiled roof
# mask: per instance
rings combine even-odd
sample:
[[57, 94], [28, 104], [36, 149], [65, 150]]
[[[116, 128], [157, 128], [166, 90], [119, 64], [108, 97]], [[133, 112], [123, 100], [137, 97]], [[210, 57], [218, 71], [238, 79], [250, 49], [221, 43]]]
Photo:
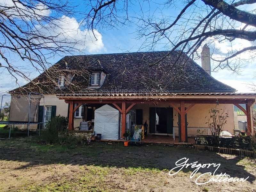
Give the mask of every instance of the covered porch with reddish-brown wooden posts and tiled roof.
[[[126, 131], [127, 123], [126, 123], [126, 115], [131, 110], [136, 110], [140, 108], [145, 108], [143, 110], [143, 124], [147, 122], [148, 132], [145, 136], [143, 142], [153, 142], [156, 143], [176, 143], [176, 142], [184, 142], [184, 143], [194, 143], [193, 138], [189, 138], [188, 132], [194, 132], [200, 128], [196, 123], [198, 119], [196, 119], [195, 113], [202, 113], [201, 116], [205, 116], [207, 111], [202, 111], [199, 106], [206, 105], [216, 105], [220, 104], [222, 106], [234, 106], [236, 105], [239, 109], [241, 109], [247, 117], [247, 134], [250, 135], [252, 133], [252, 105], [255, 104], [255, 95], [251, 94], [236, 94], [236, 93], [193, 93], [193, 94], [176, 94], [175, 96], [150, 96], [150, 97], [138, 97], [138, 96], [122, 96], [122, 97], [111, 97], [106, 99], [100, 98], [90, 98], [90, 97], [76, 97], [76, 96], [59, 96], [59, 99], [64, 99], [66, 103], [69, 104], [69, 125], [68, 129], [74, 129], [74, 112], [81, 106], [82, 104], [110, 104], [115, 107], [121, 114], [121, 127], [120, 127], [120, 139], [123, 138], [123, 134]], [[246, 109], [244, 109], [240, 104], [245, 104]], [[142, 106], [142, 107], [141, 107]], [[144, 106], [144, 107], [143, 107]], [[197, 107], [197, 108], [196, 108]], [[172, 116], [167, 115], [167, 127], [169, 124], [172, 126], [172, 130], [167, 130], [166, 133], [157, 133], [161, 132], [161, 129], [158, 131], [153, 125], [154, 122], [156, 124], [156, 119], [152, 118], [150, 115], [152, 108], [169, 108], [172, 111]], [[196, 110], [193, 111], [193, 108]], [[231, 109], [231, 108], [230, 108]], [[167, 110], [168, 112], [168, 110]], [[233, 113], [233, 111], [230, 111]], [[162, 112], [164, 114], [165, 112]], [[169, 113], [169, 112], [168, 112]], [[161, 114], [161, 112], [160, 112]], [[193, 117], [193, 119], [191, 119]], [[190, 119], [189, 119], [190, 118]], [[169, 119], [169, 120], [168, 120]], [[194, 125], [193, 125], [193, 123]], [[202, 118], [201, 118], [201, 121]], [[234, 122], [234, 121], [233, 121]], [[188, 126], [188, 123], [190, 126]], [[204, 122], [205, 123], [205, 122]], [[202, 122], [201, 122], [202, 124]], [[153, 125], [153, 126], [152, 126]], [[153, 127], [153, 129], [152, 129]], [[159, 126], [158, 126], [159, 127]], [[170, 127], [170, 126], [169, 126]], [[206, 129], [206, 127], [201, 127]], [[208, 133], [209, 134], [209, 130]], [[176, 137], [175, 137], [176, 136]], [[175, 138], [175, 140], [173, 139]]]

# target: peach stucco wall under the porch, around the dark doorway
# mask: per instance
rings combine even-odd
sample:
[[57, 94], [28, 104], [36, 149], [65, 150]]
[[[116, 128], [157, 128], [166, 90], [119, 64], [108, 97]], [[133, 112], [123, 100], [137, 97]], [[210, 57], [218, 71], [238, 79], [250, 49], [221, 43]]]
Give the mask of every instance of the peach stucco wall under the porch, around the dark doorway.
[[[176, 105], [179, 107], [179, 104]], [[188, 107], [189, 104], [185, 105]], [[187, 114], [188, 121], [188, 136], [193, 136], [198, 134], [197, 130], [199, 129], [202, 134], [211, 134], [210, 130], [207, 127], [207, 119], [209, 117], [209, 110], [211, 107], [214, 107], [215, 104], [196, 104], [193, 106]], [[136, 104], [132, 109], [142, 109], [143, 110], [143, 123], [147, 120], [149, 127], [149, 107], [171, 107], [168, 104]], [[224, 126], [224, 131], [228, 131], [229, 133], [233, 133], [234, 129], [234, 110], [233, 104], [220, 104], [218, 105], [219, 109], [223, 109], [225, 107], [226, 111], [229, 111], [229, 118], [227, 124]], [[206, 117], [206, 118], [205, 118]], [[173, 127], [175, 128], [175, 135], [178, 135], [178, 112], [173, 109]], [[149, 128], [148, 128], [149, 133]]]

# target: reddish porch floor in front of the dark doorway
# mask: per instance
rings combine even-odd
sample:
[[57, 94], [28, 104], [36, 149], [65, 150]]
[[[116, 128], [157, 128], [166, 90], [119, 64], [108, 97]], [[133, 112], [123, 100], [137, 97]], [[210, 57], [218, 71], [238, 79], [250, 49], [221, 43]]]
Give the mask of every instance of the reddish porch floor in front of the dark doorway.
[[169, 136], [169, 135], [147, 135], [145, 136], [145, 139], [143, 139], [141, 142], [192, 145], [195, 143], [195, 139], [188, 138], [188, 142], [183, 143], [183, 142], [179, 142], [179, 137], [175, 137], [175, 140], [173, 140], [172, 136]]

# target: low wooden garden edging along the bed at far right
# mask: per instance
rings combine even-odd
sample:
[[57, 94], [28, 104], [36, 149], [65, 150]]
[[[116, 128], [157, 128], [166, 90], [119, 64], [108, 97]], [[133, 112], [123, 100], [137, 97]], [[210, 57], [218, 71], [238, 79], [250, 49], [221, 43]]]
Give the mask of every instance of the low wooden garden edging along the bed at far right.
[[194, 148], [198, 150], [216, 151], [219, 153], [232, 154], [237, 156], [256, 157], [256, 152], [249, 150], [228, 149], [223, 147], [212, 147], [206, 145], [194, 145]]

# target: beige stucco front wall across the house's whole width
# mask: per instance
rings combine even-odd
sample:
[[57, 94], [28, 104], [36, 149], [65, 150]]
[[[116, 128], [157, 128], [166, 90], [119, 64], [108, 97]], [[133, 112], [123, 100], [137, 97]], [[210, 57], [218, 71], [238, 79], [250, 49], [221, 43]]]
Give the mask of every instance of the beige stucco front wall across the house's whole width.
[[[10, 114], [10, 120], [13, 119], [13, 117], [17, 117], [17, 111], [15, 111], [17, 106], [23, 106], [19, 107], [19, 109], [22, 109], [22, 113], [26, 113], [28, 110], [28, 105], [26, 105], [27, 101], [21, 101], [19, 100], [19, 104], [11, 102], [11, 113]], [[64, 100], [58, 99], [55, 95], [45, 95], [44, 98], [40, 100], [40, 105], [56, 105], [56, 115], [66, 116], [68, 115], [68, 104], [65, 103]], [[179, 107], [179, 104], [176, 105]], [[185, 107], [188, 107], [189, 104], [185, 105]], [[209, 117], [209, 110], [211, 107], [214, 107], [215, 104], [196, 104], [193, 106], [187, 114], [188, 118], [188, 136], [193, 136], [198, 134], [197, 130], [199, 129], [202, 134], [208, 134], [210, 131], [207, 129], [207, 118]], [[143, 110], [143, 123], [147, 120], [147, 123], [149, 125], [149, 107], [171, 107], [168, 104], [136, 104], [132, 109], [142, 109]], [[233, 133], [234, 129], [234, 110], [233, 110], [233, 104], [220, 104], [219, 109], [223, 109], [225, 107], [226, 111], [229, 110], [229, 118], [227, 124], [224, 126], [224, 130], [228, 131], [229, 133]], [[23, 115], [23, 117], [26, 119], [26, 116]], [[206, 118], [205, 118], [206, 117]], [[14, 118], [15, 119], [15, 118]], [[74, 119], [74, 127], [78, 127], [82, 119], [75, 118]], [[175, 128], [175, 135], [178, 135], [178, 112], [173, 109], [173, 126]], [[31, 126], [32, 128], [33, 126]], [[36, 125], [34, 125], [34, 128], [36, 128]], [[149, 133], [149, 128], [148, 128]], [[211, 134], [211, 133], [210, 133]]]

